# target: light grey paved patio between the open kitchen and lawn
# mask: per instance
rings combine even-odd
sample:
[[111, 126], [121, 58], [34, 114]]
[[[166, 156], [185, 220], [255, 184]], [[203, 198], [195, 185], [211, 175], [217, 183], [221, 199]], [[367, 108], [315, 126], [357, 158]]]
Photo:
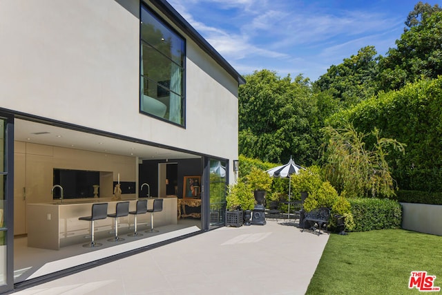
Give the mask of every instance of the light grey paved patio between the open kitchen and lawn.
[[328, 234], [222, 227], [15, 294], [305, 294]]

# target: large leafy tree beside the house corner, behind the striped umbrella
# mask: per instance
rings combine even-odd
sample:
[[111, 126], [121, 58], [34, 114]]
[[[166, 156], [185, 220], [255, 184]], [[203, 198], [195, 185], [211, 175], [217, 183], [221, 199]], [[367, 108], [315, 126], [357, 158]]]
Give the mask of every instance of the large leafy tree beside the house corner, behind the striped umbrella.
[[239, 151], [249, 158], [306, 164], [318, 155], [316, 102], [309, 79], [280, 78], [270, 70], [244, 77], [239, 89]]

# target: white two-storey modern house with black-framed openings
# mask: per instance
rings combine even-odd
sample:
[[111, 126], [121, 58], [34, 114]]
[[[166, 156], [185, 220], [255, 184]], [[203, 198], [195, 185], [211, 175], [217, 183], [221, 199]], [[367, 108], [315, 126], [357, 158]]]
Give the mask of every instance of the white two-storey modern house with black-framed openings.
[[[119, 200], [172, 210], [191, 177], [200, 230], [224, 224], [245, 81], [169, 3], [1, 1], [0, 40], [0, 293], [17, 283], [15, 238], [53, 219], [31, 205], [54, 205], [64, 173], [67, 202], [115, 200], [121, 184]], [[94, 196], [72, 176], [90, 171]]]

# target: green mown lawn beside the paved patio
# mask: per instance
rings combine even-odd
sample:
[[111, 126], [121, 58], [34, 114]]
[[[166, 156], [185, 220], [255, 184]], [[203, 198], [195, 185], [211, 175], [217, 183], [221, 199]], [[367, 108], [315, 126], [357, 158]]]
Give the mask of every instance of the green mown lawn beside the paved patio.
[[426, 271], [442, 288], [441, 258], [442, 236], [402, 229], [332, 234], [306, 294], [421, 294], [408, 289], [410, 272]]

